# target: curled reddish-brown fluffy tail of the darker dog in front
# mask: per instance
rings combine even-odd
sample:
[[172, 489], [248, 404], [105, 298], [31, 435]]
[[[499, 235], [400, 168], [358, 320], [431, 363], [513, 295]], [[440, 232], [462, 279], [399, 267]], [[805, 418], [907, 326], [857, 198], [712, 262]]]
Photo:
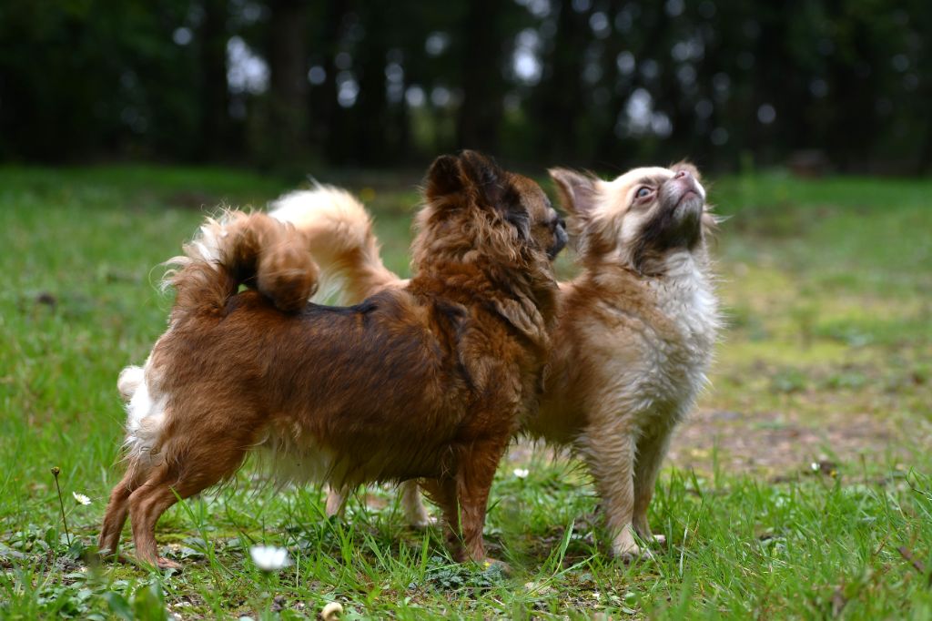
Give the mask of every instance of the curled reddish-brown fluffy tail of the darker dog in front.
[[177, 291], [172, 321], [189, 314], [223, 316], [240, 285], [256, 289], [285, 312], [299, 311], [318, 283], [318, 269], [302, 237], [267, 214], [228, 212], [209, 218], [166, 283]]

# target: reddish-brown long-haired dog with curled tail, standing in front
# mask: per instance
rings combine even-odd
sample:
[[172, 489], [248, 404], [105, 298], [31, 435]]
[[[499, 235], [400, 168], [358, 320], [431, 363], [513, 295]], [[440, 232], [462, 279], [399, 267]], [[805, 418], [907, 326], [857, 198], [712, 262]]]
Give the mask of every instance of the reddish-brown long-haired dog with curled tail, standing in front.
[[418, 478], [454, 557], [486, 559], [488, 490], [537, 406], [566, 233], [537, 184], [472, 152], [433, 163], [425, 200], [417, 276], [351, 308], [307, 305], [317, 270], [293, 228], [239, 213], [201, 228], [175, 259], [168, 331], [118, 382], [129, 463], [103, 551], [129, 513], [137, 556], [173, 566], [158, 517], [259, 448], [292, 478]]

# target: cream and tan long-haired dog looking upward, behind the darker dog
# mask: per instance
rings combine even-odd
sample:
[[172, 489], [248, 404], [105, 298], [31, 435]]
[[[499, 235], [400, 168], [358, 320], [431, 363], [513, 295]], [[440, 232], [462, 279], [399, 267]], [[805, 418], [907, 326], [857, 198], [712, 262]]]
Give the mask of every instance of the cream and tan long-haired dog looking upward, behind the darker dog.
[[[612, 551], [640, 553], [657, 473], [674, 426], [706, 383], [720, 319], [706, 253], [715, 226], [689, 164], [640, 168], [613, 181], [551, 171], [575, 232], [580, 275], [560, 284], [541, 408], [528, 435], [575, 449], [602, 497]], [[283, 197], [272, 215], [293, 222], [325, 278], [349, 300], [404, 286], [378, 258], [371, 222], [349, 194], [319, 187]], [[336, 512], [342, 494], [331, 492]], [[408, 519], [427, 514], [405, 484]]]

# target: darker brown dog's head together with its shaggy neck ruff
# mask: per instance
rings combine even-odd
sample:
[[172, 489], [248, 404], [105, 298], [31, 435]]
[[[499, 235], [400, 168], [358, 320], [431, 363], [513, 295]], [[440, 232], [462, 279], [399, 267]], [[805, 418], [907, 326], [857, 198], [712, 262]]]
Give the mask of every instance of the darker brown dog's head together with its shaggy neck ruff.
[[[412, 283], [445, 283], [546, 347], [555, 317], [552, 260], [567, 232], [541, 186], [463, 151], [434, 160], [415, 220]], [[442, 294], [443, 295], [443, 294]]]

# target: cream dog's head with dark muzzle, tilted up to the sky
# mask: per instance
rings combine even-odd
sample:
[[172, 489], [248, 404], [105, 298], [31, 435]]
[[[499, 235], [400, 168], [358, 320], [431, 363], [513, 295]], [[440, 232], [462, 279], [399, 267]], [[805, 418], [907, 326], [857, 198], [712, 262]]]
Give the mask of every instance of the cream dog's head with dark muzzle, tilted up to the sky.
[[584, 262], [616, 261], [638, 273], [663, 272], [665, 257], [705, 249], [715, 218], [692, 164], [636, 168], [613, 181], [550, 171], [570, 214]]

